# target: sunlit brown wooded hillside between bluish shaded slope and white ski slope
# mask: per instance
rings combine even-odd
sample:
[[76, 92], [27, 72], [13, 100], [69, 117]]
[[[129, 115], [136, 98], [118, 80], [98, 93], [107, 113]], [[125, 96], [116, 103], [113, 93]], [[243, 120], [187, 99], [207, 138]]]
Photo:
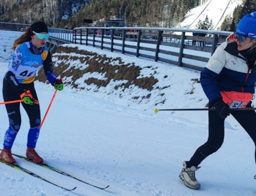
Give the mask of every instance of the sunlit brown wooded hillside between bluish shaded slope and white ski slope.
[[72, 26], [83, 26], [81, 18], [123, 19], [133, 26], [175, 27], [186, 12], [206, 0], [93, 0], [67, 21]]

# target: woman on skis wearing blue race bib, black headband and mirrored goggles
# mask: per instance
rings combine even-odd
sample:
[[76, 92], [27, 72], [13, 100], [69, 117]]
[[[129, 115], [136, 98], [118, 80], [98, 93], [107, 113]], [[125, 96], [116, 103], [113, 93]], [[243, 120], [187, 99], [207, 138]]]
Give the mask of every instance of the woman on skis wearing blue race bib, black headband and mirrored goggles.
[[[52, 58], [46, 46], [47, 39], [49, 39], [47, 25], [44, 21], [34, 21], [26, 32], [14, 41], [12, 47], [14, 53], [3, 81], [4, 101], [23, 99], [22, 105], [30, 123], [26, 156], [36, 163], [43, 161], [34, 149], [41, 123], [40, 107], [34, 88], [36, 71], [44, 66], [48, 81], [56, 90], [63, 90], [62, 81], [53, 74]], [[9, 127], [5, 133], [4, 148], [0, 158], [8, 163], [15, 163], [11, 148], [21, 124], [19, 106], [19, 102], [6, 104]]]

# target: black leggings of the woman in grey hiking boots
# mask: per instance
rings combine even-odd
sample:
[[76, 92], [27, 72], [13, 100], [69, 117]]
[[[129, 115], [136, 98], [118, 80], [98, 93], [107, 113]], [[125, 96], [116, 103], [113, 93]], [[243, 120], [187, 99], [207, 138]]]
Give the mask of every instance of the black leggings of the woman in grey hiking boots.
[[[209, 103], [209, 108], [212, 105]], [[256, 146], [256, 113], [253, 110], [248, 111], [230, 111], [230, 114], [246, 130]], [[187, 161], [187, 167], [198, 166], [206, 157], [215, 153], [224, 141], [224, 119], [219, 117], [216, 111], [209, 111], [209, 136], [205, 144], [200, 146], [190, 161]], [[256, 151], [255, 151], [256, 163]]]

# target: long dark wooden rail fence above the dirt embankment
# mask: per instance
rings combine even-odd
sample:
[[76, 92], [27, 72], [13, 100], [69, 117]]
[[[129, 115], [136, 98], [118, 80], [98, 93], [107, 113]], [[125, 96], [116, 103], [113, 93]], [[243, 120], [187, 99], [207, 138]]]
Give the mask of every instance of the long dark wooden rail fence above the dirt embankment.
[[[193, 36], [193, 33], [201, 36]], [[201, 71], [230, 33], [169, 28], [81, 27], [74, 28], [73, 42]]]

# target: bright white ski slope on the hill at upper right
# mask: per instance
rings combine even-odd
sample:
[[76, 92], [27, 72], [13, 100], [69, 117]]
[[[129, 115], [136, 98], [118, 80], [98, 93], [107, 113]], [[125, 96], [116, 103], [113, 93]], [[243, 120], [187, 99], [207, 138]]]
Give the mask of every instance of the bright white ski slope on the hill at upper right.
[[203, 5], [188, 11], [179, 28], [196, 29], [199, 19], [203, 21], [208, 15], [212, 19], [214, 30], [219, 30], [226, 16], [232, 16], [234, 8], [242, 4], [242, 0], [208, 0]]

